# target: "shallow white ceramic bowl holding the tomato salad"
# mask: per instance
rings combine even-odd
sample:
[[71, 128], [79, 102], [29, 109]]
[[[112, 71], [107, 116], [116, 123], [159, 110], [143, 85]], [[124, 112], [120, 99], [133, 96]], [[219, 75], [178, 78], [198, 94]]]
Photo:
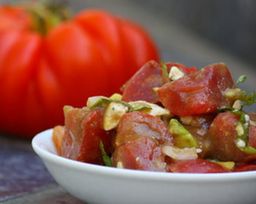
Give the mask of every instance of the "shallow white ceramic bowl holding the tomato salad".
[[92, 165], [56, 155], [52, 129], [37, 134], [32, 146], [55, 180], [88, 204], [256, 203], [256, 171], [183, 174]]

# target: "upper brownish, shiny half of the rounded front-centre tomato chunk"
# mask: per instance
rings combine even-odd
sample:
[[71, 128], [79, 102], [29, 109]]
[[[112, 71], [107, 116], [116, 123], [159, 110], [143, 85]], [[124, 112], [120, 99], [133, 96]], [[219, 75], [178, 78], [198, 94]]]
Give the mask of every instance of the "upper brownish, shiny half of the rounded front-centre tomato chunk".
[[119, 122], [115, 145], [120, 146], [142, 136], [153, 138], [160, 144], [173, 144], [173, 137], [161, 119], [142, 112], [130, 112], [124, 114]]

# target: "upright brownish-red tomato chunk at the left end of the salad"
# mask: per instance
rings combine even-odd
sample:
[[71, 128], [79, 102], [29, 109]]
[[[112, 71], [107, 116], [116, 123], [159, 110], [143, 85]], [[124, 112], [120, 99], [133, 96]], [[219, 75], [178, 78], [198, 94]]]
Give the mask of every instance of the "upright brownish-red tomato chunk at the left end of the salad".
[[62, 156], [88, 163], [102, 164], [100, 140], [110, 152], [112, 131], [102, 129], [103, 110], [87, 108], [69, 110], [65, 117]]

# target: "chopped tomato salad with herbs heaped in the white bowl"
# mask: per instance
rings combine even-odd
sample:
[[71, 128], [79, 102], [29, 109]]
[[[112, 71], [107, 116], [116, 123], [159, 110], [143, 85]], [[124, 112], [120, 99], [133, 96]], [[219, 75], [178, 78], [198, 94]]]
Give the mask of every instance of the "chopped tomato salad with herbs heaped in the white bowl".
[[65, 106], [56, 126], [58, 154], [117, 168], [179, 173], [256, 170], [255, 103], [224, 63], [197, 71], [178, 63], [144, 64], [122, 95]]

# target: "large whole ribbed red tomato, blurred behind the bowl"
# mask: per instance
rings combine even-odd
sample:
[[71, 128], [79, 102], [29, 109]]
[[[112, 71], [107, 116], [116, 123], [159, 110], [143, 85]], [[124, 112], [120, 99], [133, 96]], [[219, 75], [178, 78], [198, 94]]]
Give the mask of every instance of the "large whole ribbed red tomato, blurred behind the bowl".
[[[32, 137], [61, 124], [62, 107], [119, 92], [146, 61], [158, 60], [135, 23], [89, 9], [0, 7], [0, 131]], [[66, 21], [63, 21], [66, 20]]]

